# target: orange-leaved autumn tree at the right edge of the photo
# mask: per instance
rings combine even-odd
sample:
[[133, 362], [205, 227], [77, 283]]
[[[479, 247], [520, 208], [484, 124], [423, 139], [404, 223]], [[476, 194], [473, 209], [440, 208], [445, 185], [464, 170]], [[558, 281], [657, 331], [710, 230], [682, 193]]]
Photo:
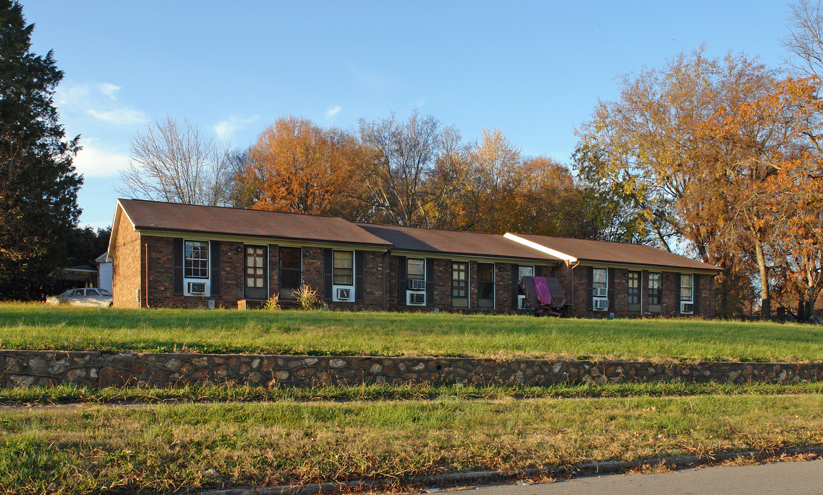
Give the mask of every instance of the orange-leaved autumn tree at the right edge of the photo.
[[[721, 212], [727, 235], [742, 235], [756, 257], [760, 297], [770, 311], [770, 268], [802, 298], [821, 291], [823, 102], [816, 78], [787, 79], [759, 99], [730, 103], [698, 134], [718, 145], [700, 191]], [[718, 206], [719, 205], [719, 206]]]

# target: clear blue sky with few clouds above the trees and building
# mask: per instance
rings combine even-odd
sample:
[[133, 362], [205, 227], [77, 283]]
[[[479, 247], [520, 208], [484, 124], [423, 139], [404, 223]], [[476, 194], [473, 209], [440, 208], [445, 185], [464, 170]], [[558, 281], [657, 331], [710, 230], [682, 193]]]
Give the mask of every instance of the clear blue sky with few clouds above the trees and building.
[[570, 163], [574, 129], [617, 76], [706, 44], [778, 67], [787, 4], [700, 2], [23, 1], [36, 53], [65, 72], [81, 134], [81, 223], [111, 223], [132, 136], [169, 114], [235, 148], [294, 114], [354, 128], [412, 109], [465, 141], [500, 127], [525, 155]]

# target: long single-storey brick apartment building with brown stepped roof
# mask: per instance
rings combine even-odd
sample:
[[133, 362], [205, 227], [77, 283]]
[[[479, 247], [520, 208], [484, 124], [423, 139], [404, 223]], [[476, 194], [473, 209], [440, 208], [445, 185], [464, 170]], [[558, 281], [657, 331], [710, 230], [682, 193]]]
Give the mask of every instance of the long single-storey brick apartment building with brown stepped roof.
[[655, 247], [120, 199], [114, 306], [237, 308], [300, 285], [330, 308], [512, 312], [523, 275], [557, 277], [577, 317], [714, 316], [715, 266]]

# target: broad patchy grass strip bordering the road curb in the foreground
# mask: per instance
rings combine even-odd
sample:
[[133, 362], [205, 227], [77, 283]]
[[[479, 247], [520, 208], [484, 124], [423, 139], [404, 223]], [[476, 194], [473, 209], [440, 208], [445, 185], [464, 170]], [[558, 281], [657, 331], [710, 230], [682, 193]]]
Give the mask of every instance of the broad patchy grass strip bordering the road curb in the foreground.
[[[2, 493], [170, 493], [823, 443], [823, 396], [5, 409]], [[216, 476], [204, 476], [215, 470]]]

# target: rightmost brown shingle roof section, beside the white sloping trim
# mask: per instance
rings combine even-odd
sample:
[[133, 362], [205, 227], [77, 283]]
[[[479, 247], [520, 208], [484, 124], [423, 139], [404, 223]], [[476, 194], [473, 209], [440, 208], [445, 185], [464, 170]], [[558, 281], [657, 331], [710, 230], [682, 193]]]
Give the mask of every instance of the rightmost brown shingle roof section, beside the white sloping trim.
[[576, 257], [579, 261], [599, 261], [603, 263], [621, 263], [627, 265], [670, 266], [672, 268], [691, 268], [697, 270], [720, 271], [717, 266], [687, 257], [663, 251], [653, 246], [628, 243], [608, 243], [606, 241], [590, 241], [548, 237], [545, 235], [515, 234], [528, 239], [533, 243], [550, 247]]

